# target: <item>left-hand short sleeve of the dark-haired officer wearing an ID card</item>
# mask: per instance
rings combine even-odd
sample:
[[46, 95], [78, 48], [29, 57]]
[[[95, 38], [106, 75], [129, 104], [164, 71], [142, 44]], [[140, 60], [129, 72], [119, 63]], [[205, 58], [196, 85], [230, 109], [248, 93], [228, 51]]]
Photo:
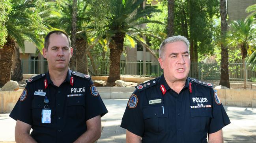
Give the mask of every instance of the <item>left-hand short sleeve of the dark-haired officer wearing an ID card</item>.
[[27, 85], [9, 116], [15, 120], [18, 119], [24, 123], [32, 125], [32, 100], [33, 95]]

